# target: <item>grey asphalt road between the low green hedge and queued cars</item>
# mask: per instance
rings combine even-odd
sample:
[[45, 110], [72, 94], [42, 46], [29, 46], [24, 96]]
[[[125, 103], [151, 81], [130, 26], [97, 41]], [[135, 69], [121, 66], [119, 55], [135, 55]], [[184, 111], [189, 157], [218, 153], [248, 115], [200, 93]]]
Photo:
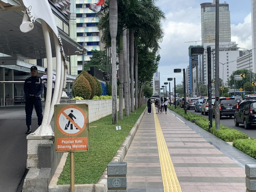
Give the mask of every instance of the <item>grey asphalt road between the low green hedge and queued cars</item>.
[[[198, 115], [201, 115], [201, 112], [199, 112], [199, 113], [195, 112], [194, 109], [191, 109], [191, 110], [188, 110], [188, 111], [192, 112], [192, 113], [195, 113], [195, 114], [198, 114]], [[208, 115], [205, 116], [205, 117], [208, 118]], [[212, 118], [212, 120], [215, 121], [214, 118]], [[238, 127], [235, 126], [234, 117], [230, 118], [230, 117], [225, 117], [225, 116], [220, 118], [220, 124], [223, 124], [224, 126], [227, 126], [229, 128], [232, 128], [232, 129], [242, 131], [243, 133], [248, 134], [250, 137], [256, 138], [256, 126], [255, 125], [252, 126], [252, 128], [246, 130], [246, 129], [244, 129], [243, 124], [239, 124]]]

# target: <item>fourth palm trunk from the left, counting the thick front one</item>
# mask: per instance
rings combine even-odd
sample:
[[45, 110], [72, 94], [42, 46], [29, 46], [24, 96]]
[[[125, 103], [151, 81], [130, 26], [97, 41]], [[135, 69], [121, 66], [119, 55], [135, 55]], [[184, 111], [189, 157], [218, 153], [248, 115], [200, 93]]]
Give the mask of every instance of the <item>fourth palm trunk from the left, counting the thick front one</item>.
[[131, 112], [134, 112], [134, 32], [130, 31]]

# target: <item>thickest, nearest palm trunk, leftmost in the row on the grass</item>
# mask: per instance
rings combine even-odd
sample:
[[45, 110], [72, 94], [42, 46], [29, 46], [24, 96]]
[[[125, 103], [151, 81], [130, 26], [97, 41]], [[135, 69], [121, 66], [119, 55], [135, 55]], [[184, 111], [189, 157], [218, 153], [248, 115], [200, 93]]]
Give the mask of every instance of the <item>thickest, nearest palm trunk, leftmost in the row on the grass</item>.
[[117, 124], [117, 84], [116, 84], [116, 34], [117, 34], [117, 0], [109, 0], [109, 31], [112, 56], [112, 124]]

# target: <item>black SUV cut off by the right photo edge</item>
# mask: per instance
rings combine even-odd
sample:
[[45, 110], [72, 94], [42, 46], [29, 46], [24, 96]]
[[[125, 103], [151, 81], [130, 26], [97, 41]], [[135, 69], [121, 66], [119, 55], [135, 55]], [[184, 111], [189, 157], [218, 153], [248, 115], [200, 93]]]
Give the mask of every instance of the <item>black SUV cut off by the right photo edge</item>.
[[240, 103], [234, 115], [235, 126], [244, 124], [244, 128], [250, 128], [251, 124], [256, 124], [256, 100], [246, 99]]

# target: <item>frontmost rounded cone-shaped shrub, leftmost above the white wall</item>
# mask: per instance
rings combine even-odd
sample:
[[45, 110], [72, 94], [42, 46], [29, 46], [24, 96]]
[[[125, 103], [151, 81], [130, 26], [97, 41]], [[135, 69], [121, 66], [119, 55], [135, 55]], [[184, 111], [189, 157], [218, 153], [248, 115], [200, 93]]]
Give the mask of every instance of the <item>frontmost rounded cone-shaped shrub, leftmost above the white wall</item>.
[[73, 83], [72, 95], [74, 97], [82, 97], [84, 99], [90, 99], [92, 89], [88, 80], [84, 76], [79, 76]]

